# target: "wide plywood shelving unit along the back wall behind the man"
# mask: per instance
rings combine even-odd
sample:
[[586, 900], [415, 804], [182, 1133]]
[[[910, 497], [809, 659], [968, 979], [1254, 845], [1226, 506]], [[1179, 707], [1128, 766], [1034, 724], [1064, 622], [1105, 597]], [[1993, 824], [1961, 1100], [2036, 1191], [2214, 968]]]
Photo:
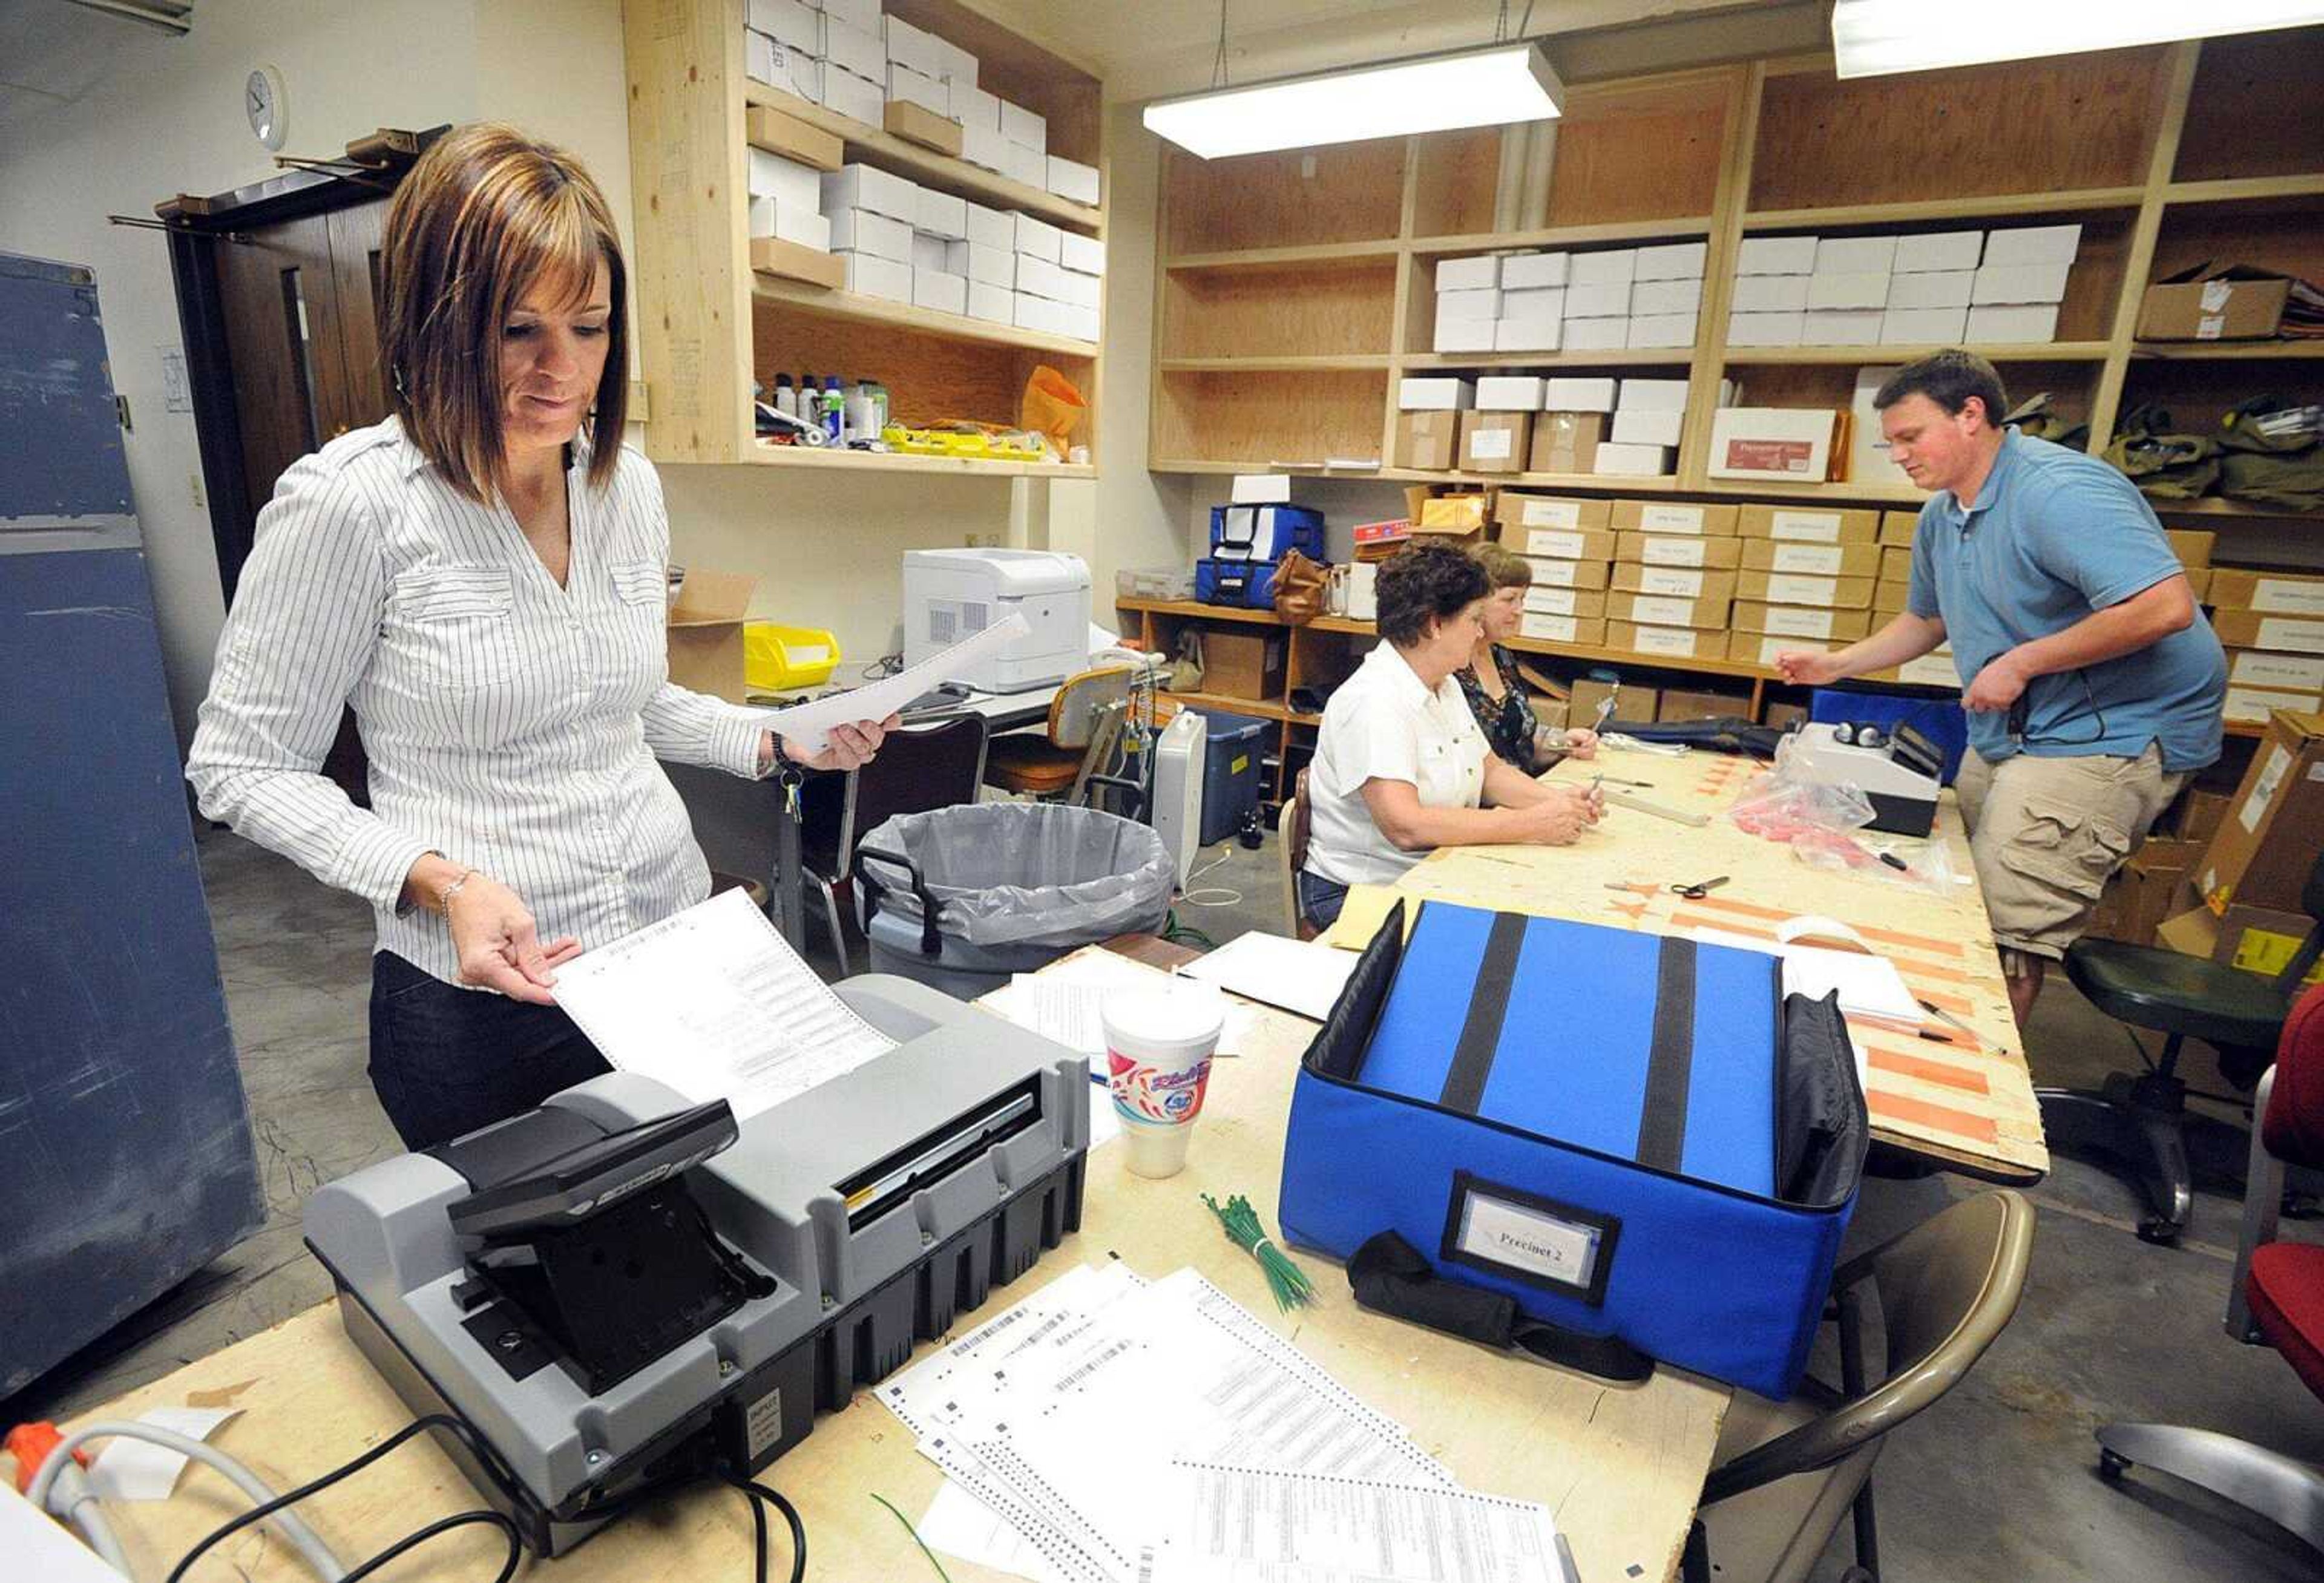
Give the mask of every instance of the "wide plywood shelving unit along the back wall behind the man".
[[[1975, 346], [2013, 397], [2047, 391], [2103, 451], [2140, 404], [2203, 428], [2261, 391], [2324, 400], [2324, 344], [2138, 342], [2145, 286], [2208, 258], [2317, 274], [2324, 258], [2324, 116], [2289, 84], [2324, 81], [2324, 28], [1838, 81], [1829, 58], [1755, 60], [1578, 84], [1555, 156], [1504, 181], [1501, 130], [1197, 160], [1167, 151], [1148, 449], [1157, 472], [1315, 472], [1397, 484], [1487, 484], [1590, 495], [1820, 500], [1903, 507], [1901, 481], [1724, 484], [1708, 477], [1722, 379], [1750, 404], [1848, 407], [1857, 367], [1934, 346], [1727, 346], [1745, 235], [1899, 235], [1948, 223], [2080, 221], [2059, 337]], [[2254, 102], [2284, 105], [2261, 128]], [[1538, 139], [1543, 132], [1536, 132]], [[1522, 158], [1522, 153], [1513, 153]], [[1527, 186], [1527, 177], [1532, 186]], [[1518, 216], [1534, 223], [1515, 223]], [[1429, 351], [1436, 263], [1511, 249], [1708, 239], [1701, 332], [1676, 351]], [[1246, 328], [1257, 337], [1227, 339]], [[1304, 363], [1301, 358], [1327, 358]], [[1464, 474], [1390, 465], [1397, 379], [1436, 370], [1627, 374], [1687, 370], [1673, 477]], [[1373, 467], [1315, 467], [1380, 458]], [[1290, 467], [1287, 463], [1308, 463]], [[2238, 560], [2247, 523], [2294, 511], [2236, 500], [2157, 500], [2166, 521], [2219, 532]], [[1132, 607], [1125, 607], [1129, 611]], [[1134, 611], [1167, 628], [1185, 614]], [[1325, 623], [1301, 632], [1329, 630]], [[1318, 639], [1294, 639], [1313, 646]], [[1520, 644], [1576, 662], [1673, 676], [1752, 665], [1650, 660]], [[2236, 735], [2247, 730], [2231, 728]], [[1292, 737], [1285, 737], [1292, 746]]]

